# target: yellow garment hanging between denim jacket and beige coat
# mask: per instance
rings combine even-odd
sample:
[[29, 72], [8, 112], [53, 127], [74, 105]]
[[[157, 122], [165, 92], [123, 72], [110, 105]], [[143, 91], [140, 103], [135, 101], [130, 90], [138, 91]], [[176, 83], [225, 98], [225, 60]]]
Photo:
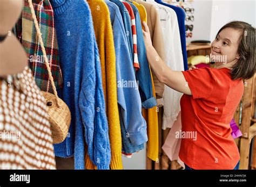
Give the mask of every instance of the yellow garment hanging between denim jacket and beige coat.
[[[145, 21], [147, 23], [147, 12], [143, 5], [133, 2], [133, 4], [137, 7], [139, 11], [139, 16], [141, 21]], [[143, 24], [142, 24], [143, 26]], [[144, 28], [144, 26], [143, 26]], [[151, 69], [150, 69], [151, 73]], [[152, 90], [153, 96], [156, 97], [156, 90], [154, 89], [154, 82], [151, 73], [151, 81], [152, 81]], [[147, 142], [147, 157], [149, 157], [153, 161], [158, 160], [158, 116], [157, 116], [157, 107], [154, 106], [152, 109], [143, 109], [142, 114], [147, 122], [147, 136], [149, 141]]]

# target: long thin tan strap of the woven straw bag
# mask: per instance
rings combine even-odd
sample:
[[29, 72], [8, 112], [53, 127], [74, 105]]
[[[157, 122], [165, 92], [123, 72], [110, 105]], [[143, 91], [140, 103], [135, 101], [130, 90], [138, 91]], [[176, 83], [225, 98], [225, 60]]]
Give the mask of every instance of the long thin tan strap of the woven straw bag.
[[57, 94], [55, 83], [53, 81], [53, 77], [52, 77], [52, 73], [51, 73], [51, 68], [50, 68], [50, 65], [49, 65], [49, 60], [48, 60], [48, 57], [47, 57], [46, 52], [45, 52], [44, 42], [43, 42], [43, 39], [42, 39], [42, 33], [41, 33], [39, 25], [38, 25], [35, 9], [33, 8], [32, 0], [28, 0], [28, 2], [29, 2], [29, 7], [30, 7], [30, 10], [31, 10], [31, 13], [32, 13], [33, 21], [35, 23], [37, 35], [38, 35], [38, 38], [39, 38], [39, 44], [41, 45], [41, 48], [42, 48], [42, 51], [43, 51], [43, 55], [44, 55], [44, 59], [45, 59], [45, 65], [46, 65], [46, 68], [48, 70], [48, 74], [49, 74], [50, 82], [51, 82], [51, 85], [52, 85], [53, 93], [56, 96], [57, 106], [59, 106], [59, 103], [58, 103], [58, 98], [59, 97], [58, 97], [58, 94]]

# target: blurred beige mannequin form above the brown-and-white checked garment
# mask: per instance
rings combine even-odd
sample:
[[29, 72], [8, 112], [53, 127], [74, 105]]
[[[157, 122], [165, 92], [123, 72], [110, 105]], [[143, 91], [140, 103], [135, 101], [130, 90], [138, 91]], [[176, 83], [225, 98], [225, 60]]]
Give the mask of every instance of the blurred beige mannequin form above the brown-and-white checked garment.
[[23, 0], [0, 1], [0, 77], [21, 73], [28, 66], [26, 53], [11, 32], [22, 8]]

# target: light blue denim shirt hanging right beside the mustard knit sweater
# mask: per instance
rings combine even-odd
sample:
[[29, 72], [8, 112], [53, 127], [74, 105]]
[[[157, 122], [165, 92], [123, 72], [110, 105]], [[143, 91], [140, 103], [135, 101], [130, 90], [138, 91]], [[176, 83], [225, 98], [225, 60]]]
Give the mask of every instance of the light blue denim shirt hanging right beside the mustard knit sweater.
[[[118, 84], [117, 99], [120, 126], [125, 137], [126, 134], [129, 134], [128, 136], [130, 138], [127, 140], [127, 142], [140, 145], [147, 141], [146, 121], [142, 116], [142, 101], [140, 100], [133, 63], [129, 54], [129, 45], [126, 38], [125, 27], [118, 6], [111, 1], [105, 2], [110, 11], [110, 19], [114, 36], [114, 48], [116, 52], [116, 72]], [[122, 80], [123, 82], [132, 81], [132, 85], [135, 85], [136, 87], [126, 88], [124, 87]], [[125, 147], [124, 143], [126, 141], [123, 140], [124, 138], [122, 139], [122, 143], [123, 147]], [[140, 146], [140, 149], [141, 148], [142, 147]]]

